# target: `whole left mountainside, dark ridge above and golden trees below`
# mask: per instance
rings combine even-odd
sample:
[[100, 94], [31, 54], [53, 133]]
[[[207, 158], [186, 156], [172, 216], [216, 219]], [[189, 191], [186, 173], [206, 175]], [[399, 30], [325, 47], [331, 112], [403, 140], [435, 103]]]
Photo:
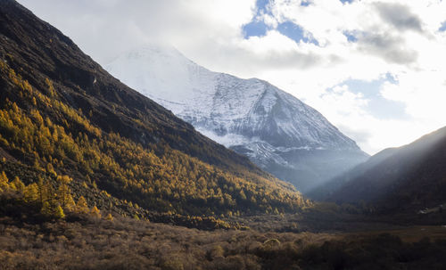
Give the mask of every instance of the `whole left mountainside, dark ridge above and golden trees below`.
[[[0, 5], [0, 149], [153, 211], [293, 211], [291, 185], [112, 78], [12, 0]], [[95, 203], [95, 201], [93, 201]]]

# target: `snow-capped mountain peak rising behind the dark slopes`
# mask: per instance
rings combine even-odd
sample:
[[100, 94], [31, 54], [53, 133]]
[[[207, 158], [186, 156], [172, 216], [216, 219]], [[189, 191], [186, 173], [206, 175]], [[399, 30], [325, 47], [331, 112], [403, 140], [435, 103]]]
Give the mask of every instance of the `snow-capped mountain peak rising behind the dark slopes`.
[[106, 70], [302, 192], [368, 158], [293, 95], [258, 78], [207, 70], [174, 48], [147, 45]]

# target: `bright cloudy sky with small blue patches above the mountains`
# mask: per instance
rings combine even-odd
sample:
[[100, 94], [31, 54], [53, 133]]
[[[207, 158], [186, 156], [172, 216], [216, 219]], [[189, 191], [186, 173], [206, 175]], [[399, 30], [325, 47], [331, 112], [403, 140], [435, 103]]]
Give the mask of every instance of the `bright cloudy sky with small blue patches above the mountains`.
[[368, 153], [446, 126], [446, 1], [19, 0], [105, 65], [147, 43], [319, 110]]

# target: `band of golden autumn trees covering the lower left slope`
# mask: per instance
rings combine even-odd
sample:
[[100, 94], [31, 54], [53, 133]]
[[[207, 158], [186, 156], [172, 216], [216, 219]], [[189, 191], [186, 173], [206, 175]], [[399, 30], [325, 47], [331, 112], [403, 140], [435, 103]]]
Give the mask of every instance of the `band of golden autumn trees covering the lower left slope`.
[[[162, 139], [143, 146], [104, 132], [88, 113], [62, 102], [52, 80], [45, 78], [45, 88], [38, 89], [4, 61], [0, 68], [21, 96], [20, 103], [6, 99], [0, 106], [0, 147], [35, 168], [54, 176], [75, 175], [112, 196], [160, 212], [229, 217], [297, 211], [310, 203], [272, 176], [212, 166]], [[73, 207], [67, 177], [56, 191], [62, 209]], [[45, 212], [58, 210], [51, 203], [46, 207], [51, 210]]]

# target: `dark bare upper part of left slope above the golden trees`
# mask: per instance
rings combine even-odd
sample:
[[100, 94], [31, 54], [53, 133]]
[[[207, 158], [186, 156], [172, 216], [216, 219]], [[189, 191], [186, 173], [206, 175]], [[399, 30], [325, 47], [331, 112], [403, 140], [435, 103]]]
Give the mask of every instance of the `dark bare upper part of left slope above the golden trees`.
[[[76, 110], [91, 110], [92, 124], [103, 131], [119, 132], [142, 144], [155, 143], [157, 138], [163, 138], [173, 148], [201, 160], [227, 166], [231, 162], [232, 165], [254, 168], [247, 159], [212, 143], [196, 133], [192, 126], [173, 117], [168, 110], [122, 85], [82, 53], [69, 37], [63, 36], [59, 30], [39, 20], [19, 4], [3, 1], [1, 12], [0, 50], [9, 66], [37, 88], [47, 87], [45, 78], [52, 80], [57, 85], [56, 90], [60, 90], [57, 94], [61, 101], [68, 102]], [[3, 98], [6, 97], [4, 94]], [[146, 130], [136, 124], [135, 119], [141, 118], [145, 124], [150, 123], [149, 127], [153, 126], [151, 135], [146, 135]], [[200, 144], [201, 149], [194, 149], [190, 144]], [[207, 145], [219, 152], [205, 152]]]

